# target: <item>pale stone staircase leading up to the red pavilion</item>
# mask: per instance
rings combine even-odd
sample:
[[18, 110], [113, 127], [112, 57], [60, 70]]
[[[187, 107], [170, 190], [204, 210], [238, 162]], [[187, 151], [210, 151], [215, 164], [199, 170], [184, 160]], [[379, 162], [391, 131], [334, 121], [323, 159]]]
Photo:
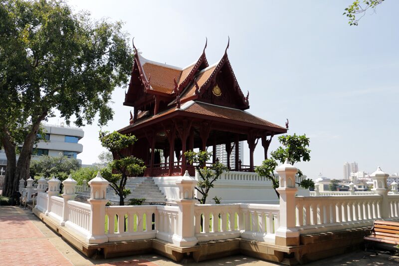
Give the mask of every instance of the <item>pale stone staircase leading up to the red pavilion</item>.
[[[130, 199], [146, 199], [145, 205], [165, 204], [167, 201], [152, 177], [129, 177], [125, 188], [130, 189], [131, 192], [126, 197], [125, 204], [128, 204]], [[77, 198], [82, 200], [89, 199], [90, 191], [78, 192]], [[115, 194], [111, 187], [107, 188], [106, 198], [112, 203], [119, 204], [119, 196]]]

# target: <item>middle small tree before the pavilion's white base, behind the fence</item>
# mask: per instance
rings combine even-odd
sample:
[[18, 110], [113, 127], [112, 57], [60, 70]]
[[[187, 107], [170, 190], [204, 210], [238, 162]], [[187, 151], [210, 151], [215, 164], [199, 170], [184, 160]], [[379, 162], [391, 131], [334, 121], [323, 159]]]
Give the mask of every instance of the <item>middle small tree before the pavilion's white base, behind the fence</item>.
[[[223, 172], [227, 172], [228, 168], [219, 162], [214, 163], [211, 167], [207, 167], [205, 163], [211, 156], [211, 153], [207, 151], [187, 151], [185, 156], [190, 164], [195, 165], [195, 168], [200, 175], [201, 180], [198, 181], [196, 190], [202, 195], [202, 197], [196, 199], [200, 204], [205, 204], [209, 190], [213, 188], [213, 182], [215, 182]], [[217, 197], [215, 198], [213, 198], [213, 200], [220, 204], [221, 199]]]

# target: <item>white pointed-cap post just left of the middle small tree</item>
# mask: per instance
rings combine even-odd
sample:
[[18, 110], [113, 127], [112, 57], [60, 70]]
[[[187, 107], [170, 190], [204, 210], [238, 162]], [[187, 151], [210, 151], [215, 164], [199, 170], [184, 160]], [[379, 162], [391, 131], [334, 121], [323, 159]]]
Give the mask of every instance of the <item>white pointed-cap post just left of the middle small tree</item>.
[[[183, 178], [176, 181], [176, 185], [179, 188], [179, 199], [176, 200], [179, 206], [179, 214], [177, 232], [174, 232], [172, 241], [179, 247], [193, 247], [198, 242], [195, 236], [194, 221], [194, 207], [197, 201], [194, 198], [194, 188], [197, 185], [197, 180], [190, 177], [189, 172], [186, 170]], [[209, 216], [205, 217], [204, 220], [209, 221]]]

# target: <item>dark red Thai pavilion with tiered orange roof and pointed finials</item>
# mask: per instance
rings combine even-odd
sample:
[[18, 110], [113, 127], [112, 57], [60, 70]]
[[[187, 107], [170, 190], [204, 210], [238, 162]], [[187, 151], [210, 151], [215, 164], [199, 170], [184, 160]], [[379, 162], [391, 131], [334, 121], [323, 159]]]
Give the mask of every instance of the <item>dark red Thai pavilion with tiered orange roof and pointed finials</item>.
[[238, 85], [227, 56], [228, 44], [221, 59], [210, 66], [205, 48], [206, 44], [196, 62], [180, 68], [150, 61], [134, 46], [133, 69], [123, 103], [133, 106], [134, 111], [130, 125], [119, 132], [137, 137], [123, 153], [145, 161], [144, 176], [180, 176], [186, 170], [194, 176], [194, 166], [184, 156], [186, 151], [212, 146], [214, 163], [216, 145], [226, 144], [229, 158], [239, 141], [248, 143], [249, 166], [241, 165], [238, 152], [235, 165], [228, 162], [227, 166], [231, 171], [253, 172], [253, 152], [259, 139], [266, 158], [271, 138], [287, 132], [246, 111], [249, 92], [245, 96]]

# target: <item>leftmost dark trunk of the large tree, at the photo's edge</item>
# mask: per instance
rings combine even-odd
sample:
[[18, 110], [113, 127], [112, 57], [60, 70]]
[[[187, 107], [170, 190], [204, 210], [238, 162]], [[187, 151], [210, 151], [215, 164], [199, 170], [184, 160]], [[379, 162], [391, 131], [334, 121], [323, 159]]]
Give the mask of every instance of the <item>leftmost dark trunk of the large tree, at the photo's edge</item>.
[[5, 197], [11, 197], [12, 193], [18, 190], [18, 179], [14, 178], [16, 168], [16, 146], [11, 142], [8, 132], [5, 132], [5, 130], [1, 142], [3, 143], [5, 155], [7, 157], [7, 169], [1, 194]]

